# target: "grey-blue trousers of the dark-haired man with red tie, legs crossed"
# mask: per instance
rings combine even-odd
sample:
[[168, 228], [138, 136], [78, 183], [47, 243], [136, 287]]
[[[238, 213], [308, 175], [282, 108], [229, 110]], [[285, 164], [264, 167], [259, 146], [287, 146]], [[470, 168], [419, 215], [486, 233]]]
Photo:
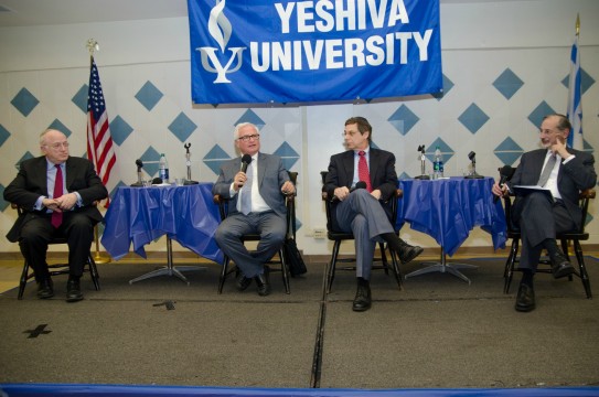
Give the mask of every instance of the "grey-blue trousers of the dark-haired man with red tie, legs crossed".
[[357, 189], [336, 205], [335, 218], [341, 232], [354, 235], [356, 277], [370, 280], [379, 235], [395, 233], [385, 210], [367, 190]]

